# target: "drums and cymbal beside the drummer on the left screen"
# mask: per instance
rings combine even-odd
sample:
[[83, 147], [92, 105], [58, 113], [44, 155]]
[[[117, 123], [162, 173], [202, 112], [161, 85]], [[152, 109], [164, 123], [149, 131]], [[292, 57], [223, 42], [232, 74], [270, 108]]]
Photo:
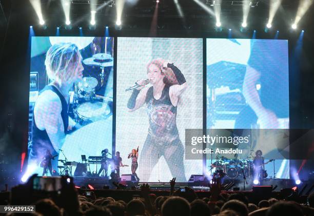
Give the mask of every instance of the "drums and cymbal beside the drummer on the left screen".
[[96, 90], [104, 87], [105, 67], [113, 67], [113, 58], [107, 53], [97, 53], [83, 60], [88, 66], [100, 67], [98, 80], [92, 76], [83, 77], [82, 81], [74, 84], [73, 104], [76, 121], [81, 125], [107, 119], [111, 114], [112, 97], [95, 94]]

